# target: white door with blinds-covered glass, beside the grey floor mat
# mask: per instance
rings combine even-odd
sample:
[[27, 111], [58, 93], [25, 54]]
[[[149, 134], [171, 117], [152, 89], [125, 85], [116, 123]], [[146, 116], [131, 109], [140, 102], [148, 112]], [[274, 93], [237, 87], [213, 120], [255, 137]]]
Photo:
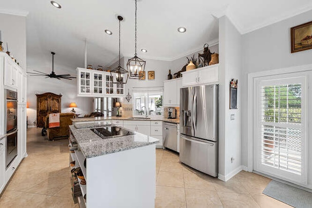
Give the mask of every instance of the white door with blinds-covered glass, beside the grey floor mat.
[[306, 77], [283, 76], [254, 81], [254, 170], [307, 184]]

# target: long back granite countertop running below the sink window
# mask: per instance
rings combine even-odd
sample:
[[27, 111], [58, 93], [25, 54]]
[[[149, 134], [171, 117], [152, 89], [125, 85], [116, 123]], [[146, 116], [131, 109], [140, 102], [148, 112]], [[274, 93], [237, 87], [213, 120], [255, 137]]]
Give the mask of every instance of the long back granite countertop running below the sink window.
[[140, 118], [131, 118], [131, 117], [122, 117], [122, 116], [111, 116], [111, 117], [83, 117], [83, 118], [71, 118], [73, 122], [86, 122], [86, 121], [104, 121], [104, 120], [129, 120], [129, 121], [166, 121], [170, 123], [178, 124], [180, 120], [178, 118], [169, 119], [164, 117], [150, 117], [150, 119], [140, 119]]

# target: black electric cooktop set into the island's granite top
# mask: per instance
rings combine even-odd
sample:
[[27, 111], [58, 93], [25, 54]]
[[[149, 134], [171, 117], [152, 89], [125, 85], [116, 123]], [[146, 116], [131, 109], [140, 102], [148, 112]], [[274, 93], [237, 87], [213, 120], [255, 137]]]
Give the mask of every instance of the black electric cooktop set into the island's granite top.
[[131, 132], [131, 131], [125, 130], [125, 129], [117, 127], [117, 126], [105, 126], [105, 127], [94, 128], [94, 129], [90, 129], [90, 130], [92, 132], [95, 132], [96, 134], [98, 134], [103, 139], [135, 134], [135, 132]]

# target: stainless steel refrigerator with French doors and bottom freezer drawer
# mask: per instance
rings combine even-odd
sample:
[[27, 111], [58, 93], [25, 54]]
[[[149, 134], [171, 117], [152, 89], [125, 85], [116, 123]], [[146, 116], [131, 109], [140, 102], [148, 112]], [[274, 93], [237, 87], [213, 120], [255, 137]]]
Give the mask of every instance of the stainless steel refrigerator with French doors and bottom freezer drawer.
[[180, 89], [180, 161], [218, 174], [218, 85]]

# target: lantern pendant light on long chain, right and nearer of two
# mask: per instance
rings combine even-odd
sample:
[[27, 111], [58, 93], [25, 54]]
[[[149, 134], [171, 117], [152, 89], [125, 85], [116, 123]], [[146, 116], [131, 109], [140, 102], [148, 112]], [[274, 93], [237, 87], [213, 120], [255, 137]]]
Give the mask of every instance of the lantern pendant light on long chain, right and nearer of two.
[[131, 79], [141, 79], [145, 73], [145, 60], [137, 57], [137, 0], [136, 0], [136, 52], [133, 58], [130, 58], [127, 62], [127, 69], [129, 71]]

